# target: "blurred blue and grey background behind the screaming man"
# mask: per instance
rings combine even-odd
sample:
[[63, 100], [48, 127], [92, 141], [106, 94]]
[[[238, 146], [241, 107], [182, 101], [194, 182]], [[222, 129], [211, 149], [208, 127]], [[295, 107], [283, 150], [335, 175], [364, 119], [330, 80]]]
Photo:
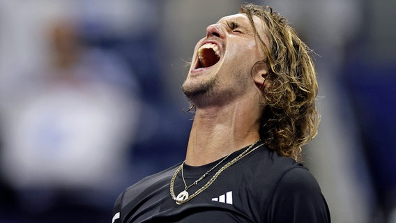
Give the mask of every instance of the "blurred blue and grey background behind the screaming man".
[[[333, 222], [396, 222], [396, 1], [251, 2], [317, 54], [304, 164]], [[125, 187], [181, 162], [186, 64], [242, 3], [0, 0], [0, 223], [110, 222]]]

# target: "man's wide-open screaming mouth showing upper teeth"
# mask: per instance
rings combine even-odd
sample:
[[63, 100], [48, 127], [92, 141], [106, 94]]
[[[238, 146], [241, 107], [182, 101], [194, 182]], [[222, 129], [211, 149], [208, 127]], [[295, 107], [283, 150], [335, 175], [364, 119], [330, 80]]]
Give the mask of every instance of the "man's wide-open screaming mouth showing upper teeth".
[[197, 68], [208, 68], [218, 63], [218, 61], [220, 61], [218, 45], [206, 43], [199, 47]]

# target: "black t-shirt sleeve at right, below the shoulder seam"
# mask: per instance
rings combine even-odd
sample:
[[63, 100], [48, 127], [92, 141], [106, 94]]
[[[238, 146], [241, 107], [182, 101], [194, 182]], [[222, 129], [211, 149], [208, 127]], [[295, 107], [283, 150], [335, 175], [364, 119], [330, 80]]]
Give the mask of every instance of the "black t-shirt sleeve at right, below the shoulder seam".
[[310, 171], [296, 167], [282, 176], [273, 194], [268, 222], [330, 223], [326, 200]]

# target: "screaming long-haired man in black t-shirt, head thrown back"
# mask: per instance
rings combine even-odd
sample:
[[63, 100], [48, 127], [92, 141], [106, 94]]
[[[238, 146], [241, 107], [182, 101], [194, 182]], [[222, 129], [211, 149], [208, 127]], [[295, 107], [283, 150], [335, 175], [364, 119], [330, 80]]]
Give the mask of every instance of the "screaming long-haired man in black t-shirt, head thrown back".
[[330, 222], [296, 162], [317, 132], [309, 53], [268, 6], [208, 26], [183, 84], [195, 109], [185, 161], [125, 190], [113, 222]]

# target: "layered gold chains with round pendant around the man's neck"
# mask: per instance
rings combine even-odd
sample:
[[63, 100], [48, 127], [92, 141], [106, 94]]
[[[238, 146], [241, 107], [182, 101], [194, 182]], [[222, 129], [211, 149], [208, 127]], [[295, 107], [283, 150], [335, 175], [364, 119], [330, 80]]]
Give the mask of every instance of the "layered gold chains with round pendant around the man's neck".
[[[192, 183], [191, 185], [187, 185], [185, 183], [185, 179], [184, 179], [184, 174], [183, 174], [183, 165], [184, 165], [184, 161], [181, 163], [180, 167], [178, 167], [178, 169], [176, 169], [174, 175], [171, 178], [171, 183], [170, 183], [170, 193], [172, 196], [172, 199], [174, 199], [174, 201], [176, 201], [177, 204], [182, 204], [185, 203], [187, 201], [190, 201], [191, 199], [193, 199], [194, 197], [196, 197], [199, 193], [203, 192], [204, 190], [206, 190], [206, 188], [208, 188], [215, 180], [216, 178], [218, 178], [218, 176], [222, 173], [222, 171], [224, 171], [225, 169], [227, 169], [228, 167], [230, 167], [232, 164], [234, 164], [235, 162], [237, 162], [238, 160], [241, 160], [241, 158], [245, 157], [246, 155], [248, 155], [249, 153], [252, 153], [253, 151], [255, 151], [257, 148], [259, 148], [261, 145], [254, 147], [252, 150], [251, 148], [257, 144], [260, 141], [257, 140], [255, 141], [253, 144], [251, 144], [245, 151], [243, 151], [243, 153], [239, 154], [237, 157], [235, 157], [233, 160], [231, 160], [230, 162], [228, 162], [227, 164], [225, 164], [224, 166], [222, 166], [216, 173], [215, 175], [208, 180], [208, 182], [202, 186], [201, 188], [199, 188], [196, 192], [194, 192], [193, 194], [191, 194], [191, 196], [189, 196], [187, 190], [192, 187], [193, 185], [197, 185], [199, 183], [199, 181], [203, 180], [206, 176], [208, 176], [208, 174], [213, 171], [213, 169], [215, 169], [216, 167], [218, 167], [224, 160], [226, 160], [229, 155], [231, 155], [232, 153], [230, 153], [229, 155], [227, 155], [226, 157], [224, 157], [222, 160], [220, 160], [220, 162], [218, 162], [218, 164], [215, 165], [215, 167], [212, 167], [211, 169], [209, 169], [208, 171], [206, 171], [206, 173], [204, 175], [202, 175], [200, 178], [198, 178], [198, 180], [195, 180], [194, 183]], [[181, 177], [183, 178], [183, 183], [185, 185], [184, 190], [182, 192], [180, 192], [178, 194], [178, 196], [176, 197], [176, 194], [174, 193], [174, 181], [176, 180], [176, 176], [178, 174], [178, 172], [181, 171]]]

